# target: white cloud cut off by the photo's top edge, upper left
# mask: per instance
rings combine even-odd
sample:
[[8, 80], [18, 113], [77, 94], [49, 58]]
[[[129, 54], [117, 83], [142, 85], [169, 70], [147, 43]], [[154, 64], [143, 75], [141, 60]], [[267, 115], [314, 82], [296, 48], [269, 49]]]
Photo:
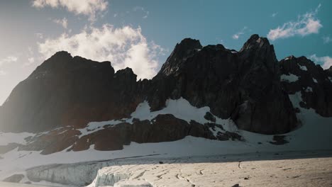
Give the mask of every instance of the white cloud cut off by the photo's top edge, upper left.
[[89, 16], [90, 20], [94, 20], [97, 12], [106, 10], [108, 2], [105, 0], [33, 0], [32, 5], [36, 8], [65, 7], [68, 11]]

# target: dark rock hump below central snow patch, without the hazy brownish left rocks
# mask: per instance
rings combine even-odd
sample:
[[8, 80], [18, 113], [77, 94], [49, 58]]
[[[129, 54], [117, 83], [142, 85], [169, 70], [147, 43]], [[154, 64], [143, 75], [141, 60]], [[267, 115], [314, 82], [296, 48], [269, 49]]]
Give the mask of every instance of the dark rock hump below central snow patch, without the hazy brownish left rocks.
[[240, 137], [240, 135], [236, 136], [236, 133], [231, 132], [225, 132], [223, 139], [214, 137], [209, 127], [209, 125], [202, 125], [194, 121], [187, 123], [170, 114], [157, 115], [150, 121], [135, 120], [133, 124], [110, 125], [104, 130], [83, 136], [70, 149], [81, 151], [94, 145], [94, 149], [97, 150], [118, 150], [123, 149], [123, 145], [129, 145], [131, 142], [171, 142], [181, 140], [189, 135], [212, 140], [230, 140]]

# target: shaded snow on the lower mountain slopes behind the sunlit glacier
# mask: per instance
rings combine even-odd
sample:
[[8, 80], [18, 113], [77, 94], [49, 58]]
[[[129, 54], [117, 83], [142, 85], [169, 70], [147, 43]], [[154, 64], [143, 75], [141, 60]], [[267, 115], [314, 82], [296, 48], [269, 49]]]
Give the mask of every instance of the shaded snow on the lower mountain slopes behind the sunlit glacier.
[[[174, 158], [174, 157], [201, 157], [221, 154], [243, 154], [250, 152], [280, 152], [280, 151], [301, 151], [316, 149], [332, 149], [332, 118], [323, 118], [315, 113], [313, 109], [301, 108], [299, 103], [302, 101], [301, 92], [289, 95], [294, 108], [299, 108], [297, 118], [301, 120], [302, 126], [297, 130], [285, 134], [289, 143], [285, 145], [272, 145], [273, 135], [260, 135], [245, 130], [238, 130], [232, 120], [223, 120], [216, 118], [216, 123], [223, 125], [228, 131], [236, 131], [242, 135], [245, 141], [218, 141], [206, 140], [200, 137], [185, 137], [175, 142], [159, 142], [138, 144], [131, 142], [124, 146], [123, 150], [118, 151], [97, 151], [92, 145], [89, 149], [81, 152], [56, 152], [53, 154], [42, 155], [37, 151], [18, 151], [13, 149], [6, 154], [0, 154], [0, 180], [13, 174], [18, 174], [34, 166], [47, 164], [70, 164], [79, 162], [91, 162], [98, 160], [118, 159], [123, 157], [142, 157], [142, 158]], [[195, 108], [191, 106], [184, 98], [178, 100], [168, 100], [166, 107], [160, 111], [150, 112], [148, 102], [140, 103], [136, 111], [132, 113], [132, 118], [121, 121], [108, 121], [89, 123], [83, 133], [89, 133], [101, 129], [104, 125], [116, 124], [118, 122], [131, 122], [133, 118], [140, 120], [153, 119], [158, 114], [170, 113], [183, 120], [196, 120], [199, 123], [209, 122], [204, 119], [209, 107]], [[216, 135], [221, 129], [211, 129]], [[33, 136], [31, 133], [1, 133], [1, 145], [7, 145], [9, 142], [26, 143], [24, 138]], [[258, 144], [261, 142], [261, 144]], [[199, 147], [199, 149], [197, 149]], [[2, 159], [1, 159], [2, 158]], [[69, 171], [68, 171], [69, 172]], [[83, 171], [82, 171], [83, 172]], [[51, 173], [48, 180], [51, 180]], [[66, 177], [71, 177], [67, 174]], [[48, 181], [45, 180], [45, 181]]]

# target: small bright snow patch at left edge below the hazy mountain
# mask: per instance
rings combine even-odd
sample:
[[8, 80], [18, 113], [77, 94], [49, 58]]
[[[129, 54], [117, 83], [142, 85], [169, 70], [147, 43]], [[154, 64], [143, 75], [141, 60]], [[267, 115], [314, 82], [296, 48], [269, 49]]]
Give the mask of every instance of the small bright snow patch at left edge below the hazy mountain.
[[27, 137], [33, 137], [35, 134], [28, 132], [21, 133], [12, 133], [12, 132], [0, 132], [0, 146], [8, 145], [9, 143], [17, 143], [17, 144], [26, 144]]

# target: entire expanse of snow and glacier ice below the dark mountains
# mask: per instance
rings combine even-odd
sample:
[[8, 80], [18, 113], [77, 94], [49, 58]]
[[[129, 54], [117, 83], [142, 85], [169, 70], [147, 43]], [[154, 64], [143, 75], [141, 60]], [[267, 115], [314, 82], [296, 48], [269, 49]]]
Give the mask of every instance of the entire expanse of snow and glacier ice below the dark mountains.
[[[288, 78], [289, 77], [287, 77], [288, 81], [295, 81], [294, 77], [291, 77], [292, 79]], [[217, 141], [188, 136], [185, 137], [183, 140], [178, 140], [175, 142], [145, 144], [131, 142], [131, 145], [125, 146], [123, 150], [118, 151], [97, 151], [92, 145], [89, 149], [81, 152], [66, 152], [64, 150], [62, 152], [56, 152], [54, 154], [48, 155], [42, 155], [40, 154], [40, 152], [35, 151], [18, 151], [18, 149], [13, 149], [12, 151], [5, 154], [0, 154], [0, 180], [6, 179], [13, 174], [23, 174], [25, 177], [23, 180], [24, 182], [30, 181], [35, 184], [40, 184], [40, 182], [42, 182], [43, 184], [43, 181], [48, 181], [62, 183], [67, 186], [86, 186], [91, 183], [96, 176], [97, 177], [94, 180], [94, 183], [92, 183], [90, 186], [106, 185], [106, 183], [107, 185], [122, 187], [135, 186], [133, 185], [133, 183], [140, 183], [140, 187], [149, 185], [167, 186], [170, 184], [174, 184], [174, 186], [175, 184], [177, 186], [181, 186], [182, 184], [184, 186], [187, 186], [190, 183], [192, 183], [191, 185], [195, 186], [220, 186], [221, 183], [225, 183], [225, 185], [231, 185], [231, 183], [229, 183], [230, 181], [226, 180], [231, 177], [229, 176], [231, 175], [231, 173], [226, 174], [223, 173], [223, 171], [221, 172], [221, 169], [231, 169], [230, 171], [233, 171], [233, 167], [236, 168], [236, 164], [234, 164], [233, 162], [224, 163], [221, 159], [223, 157], [231, 157], [227, 156], [229, 154], [244, 154], [245, 156], [239, 158], [243, 160], [245, 159], [245, 157], [248, 157], [247, 154], [256, 156], [257, 154], [255, 153], [262, 152], [265, 152], [265, 154], [271, 154], [276, 152], [309, 152], [310, 150], [332, 150], [332, 118], [323, 118], [321, 117], [321, 115], [315, 113], [313, 109], [301, 108], [299, 106], [299, 103], [302, 101], [300, 92], [297, 92], [294, 95], [289, 95], [289, 97], [291, 98], [294, 108], [299, 108], [300, 110], [300, 113], [297, 113], [297, 117], [299, 118], [299, 120], [301, 120], [302, 125], [297, 130], [284, 134], [284, 137], [282, 138], [286, 143], [283, 144], [278, 144], [277, 142], [275, 142], [276, 140], [273, 135], [260, 135], [253, 132], [238, 130], [232, 120], [223, 120], [220, 118], [216, 118], [217, 124], [223, 125], [223, 128], [225, 130], [228, 130], [230, 132], [236, 132], [239, 135], [243, 136], [244, 141]], [[178, 100], [168, 100], [167, 106], [165, 108], [163, 108], [161, 111], [155, 112], [150, 112], [150, 106], [148, 106], [148, 102], [144, 102], [140, 103], [136, 111], [132, 113], [132, 118], [119, 121], [111, 120], [107, 122], [92, 122], [87, 125], [87, 128], [80, 129], [79, 131], [82, 133], [82, 135], [87, 135], [89, 133], [101, 130], [104, 125], [116, 125], [123, 121], [131, 123], [133, 118], [138, 118], [140, 120], [151, 120], [155, 118], [155, 116], [157, 116], [158, 114], [167, 113], [173, 114], [175, 115], [175, 117], [183, 120], [196, 120], [199, 123], [207, 123], [209, 121], [204, 118], [204, 115], [208, 111], [210, 111], [209, 107], [195, 108], [194, 106], [191, 106], [190, 103], [184, 98], [179, 98]], [[217, 129], [216, 131], [221, 130]], [[26, 138], [31, 136], [34, 136], [34, 134], [1, 133], [0, 145], [7, 145], [10, 142], [24, 144], [27, 140]], [[225, 156], [221, 157], [220, 155]], [[332, 155], [331, 152], [329, 155]], [[158, 167], [156, 166], [156, 164], [142, 164], [138, 161], [135, 161], [135, 163], [131, 164], [128, 164], [128, 162], [123, 162], [122, 165], [118, 164], [117, 166], [113, 166], [114, 163], [116, 163], [115, 161], [121, 158], [139, 158], [140, 160], [153, 159], [153, 161], [151, 162], [155, 163], [156, 160], [160, 159], [172, 160], [172, 158], [183, 157], [197, 157], [201, 160], [188, 161], [189, 163], [184, 162], [184, 164], [161, 164], [160, 166], [157, 165]], [[204, 157], [214, 159], [215, 162], [206, 160], [204, 159]], [[262, 157], [262, 159], [265, 159], [265, 157]], [[272, 166], [274, 166], [273, 169], [277, 169], [277, 167], [275, 166], [277, 166], [278, 164], [284, 168], [287, 166], [287, 164], [306, 164], [311, 163], [312, 161], [313, 160], [310, 159], [304, 159], [302, 161], [271, 161], [270, 167], [268, 166], [269, 162], [260, 161], [258, 163], [257, 161], [255, 162], [255, 164], [260, 165], [260, 168], [266, 169], [268, 172], [270, 172], [270, 170], [272, 172]], [[89, 162], [90, 165], [87, 164], [87, 162]], [[99, 164], [91, 164], [92, 162]], [[315, 162], [318, 165], [313, 165], [312, 167], [325, 167], [320, 159], [315, 160]], [[327, 159], [327, 162], [331, 163], [331, 159]], [[56, 164], [56, 166], [52, 165], [43, 168], [43, 166], [49, 164]], [[72, 165], [69, 166], [68, 164], [74, 164], [74, 168], [72, 168]], [[43, 169], [40, 170], [40, 168], [38, 169], [37, 166], [42, 166], [40, 168]], [[61, 168], [59, 169], [57, 166], [61, 166]], [[106, 168], [101, 169], [105, 166]], [[111, 166], [111, 168], [107, 166]], [[255, 177], [259, 178], [259, 172], [263, 172], [258, 170], [258, 166], [242, 166], [243, 170], [240, 170], [240, 176], [232, 176], [233, 178], [243, 178], [245, 176], [245, 173], [251, 174], [251, 172], [254, 172], [253, 175], [257, 175]], [[163, 167], [165, 167], [165, 171], [162, 170]], [[201, 176], [199, 175], [199, 173], [197, 173], [199, 172], [200, 167], [206, 169], [205, 171], [201, 171], [203, 173]], [[258, 173], [255, 173], [255, 171], [251, 170], [251, 168], [253, 167], [257, 169], [253, 170], [258, 171]], [[329, 169], [332, 169], [332, 167], [330, 166]], [[144, 170], [147, 171], [142, 174]], [[165, 172], [167, 172], [167, 174], [163, 174]], [[216, 174], [214, 174], [214, 172]], [[275, 172], [278, 171], [276, 170]], [[311, 174], [310, 172], [306, 171], [306, 174]], [[253, 177], [253, 175], [249, 177]], [[162, 178], [158, 178], [158, 176]], [[170, 179], [168, 179], [168, 177]], [[231, 179], [233, 179], [232, 177]], [[236, 181], [238, 179], [235, 178], [233, 179], [233, 184], [231, 186], [236, 184]], [[273, 177], [271, 178], [272, 179], [269, 180], [278, 180], [280, 181], [280, 183], [284, 182], [280, 179], [274, 179]], [[300, 177], [297, 178], [300, 179]], [[121, 181], [118, 179], [125, 180]], [[143, 179], [146, 179], [146, 181], [142, 181]], [[157, 182], [159, 179], [165, 179], [163, 181], [165, 183], [162, 185], [162, 183]], [[330, 179], [332, 179], [332, 177]], [[112, 180], [118, 180], [121, 182], [109, 182]], [[241, 181], [243, 180], [244, 179], [241, 179]], [[214, 181], [218, 181], [218, 183], [210, 183]], [[274, 182], [271, 183], [274, 184]], [[242, 183], [240, 184], [242, 185]], [[250, 180], [245, 180], [244, 184], [248, 184], [248, 186], [250, 186], [252, 183], [250, 183]]]

